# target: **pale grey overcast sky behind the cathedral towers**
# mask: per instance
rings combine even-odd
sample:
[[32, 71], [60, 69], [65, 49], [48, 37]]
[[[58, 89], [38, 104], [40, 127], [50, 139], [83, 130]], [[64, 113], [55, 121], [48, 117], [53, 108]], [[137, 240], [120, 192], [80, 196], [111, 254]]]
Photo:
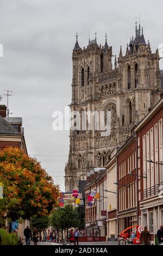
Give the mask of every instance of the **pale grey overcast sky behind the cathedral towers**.
[[[0, 92], [13, 91], [10, 116], [23, 118], [28, 153], [55, 155], [37, 159], [62, 191], [69, 132], [52, 130], [52, 113], [71, 103], [76, 32], [80, 47], [87, 46], [89, 29], [90, 39], [97, 32], [102, 45], [106, 32], [113, 54], [120, 45], [124, 54], [140, 11], [146, 42], [155, 52], [163, 43], [162, 9], [161, 0], [0, 0]], [[4, 97], [1, 104], [6, 102]]]

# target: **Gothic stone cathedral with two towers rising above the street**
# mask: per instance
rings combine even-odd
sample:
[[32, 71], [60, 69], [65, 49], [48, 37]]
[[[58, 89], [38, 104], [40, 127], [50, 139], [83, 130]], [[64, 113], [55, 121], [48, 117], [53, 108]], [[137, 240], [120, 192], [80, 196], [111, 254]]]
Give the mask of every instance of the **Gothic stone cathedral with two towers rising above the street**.
[[158, 49], [152, 53], [140, 25], [136, 25], [135, 37], [127, 44], [126, 54], [120, 48], [114, 66], [112, 47], [106, 39], [104, 46], [98, 45], [95, 38], [82, 49], [77, 38], [72, 53], [71, 112], [78, 111], [83, 121], [83, 114], [85, 117], [88, 111], [110, 111], [111, 133], [102, 136], [102, 131], [95, 129], [95, 121], [92, 130], [70, 130], [66, 192], [78, 187], [79, 180], [86, 180], [86, 173], [93, 167], [104, 167], [131, 135], [131, 127], [159, 101], [162, 93], [159, 59]]

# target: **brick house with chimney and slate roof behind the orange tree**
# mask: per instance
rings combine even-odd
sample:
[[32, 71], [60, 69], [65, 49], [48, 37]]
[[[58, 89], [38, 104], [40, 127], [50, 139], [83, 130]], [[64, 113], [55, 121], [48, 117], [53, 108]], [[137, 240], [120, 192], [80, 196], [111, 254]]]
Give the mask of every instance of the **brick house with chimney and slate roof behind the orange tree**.
[[0, 105], [0, 150], [6, 147], [18, 147], [27, 154], [22, 127], [22, 118], [7, 118], [7, 108]]

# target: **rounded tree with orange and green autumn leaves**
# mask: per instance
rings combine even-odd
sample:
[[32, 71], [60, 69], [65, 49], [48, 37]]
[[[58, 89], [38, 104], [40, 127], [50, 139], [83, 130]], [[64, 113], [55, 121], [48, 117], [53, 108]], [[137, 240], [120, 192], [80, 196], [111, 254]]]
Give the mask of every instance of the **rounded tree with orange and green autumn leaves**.
[[54, 185], [40, 162], [21, 149], [9, 147], [0, 151], [0, 184], [1, 221], [46, 216], [58, 206], [59, 186]]

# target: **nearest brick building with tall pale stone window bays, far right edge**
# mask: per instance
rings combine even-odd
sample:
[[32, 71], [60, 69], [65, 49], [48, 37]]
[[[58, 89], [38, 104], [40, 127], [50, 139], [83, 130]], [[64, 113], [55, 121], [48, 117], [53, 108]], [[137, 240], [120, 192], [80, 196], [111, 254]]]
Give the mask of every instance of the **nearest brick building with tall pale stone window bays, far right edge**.
[[[139, 223], [154, 236], [163, 224], [163, 98], [137, 125]], [[146, 176], [146, 178], [141, 178]], [[152, 238], [153, 238], [152, 236]]]

